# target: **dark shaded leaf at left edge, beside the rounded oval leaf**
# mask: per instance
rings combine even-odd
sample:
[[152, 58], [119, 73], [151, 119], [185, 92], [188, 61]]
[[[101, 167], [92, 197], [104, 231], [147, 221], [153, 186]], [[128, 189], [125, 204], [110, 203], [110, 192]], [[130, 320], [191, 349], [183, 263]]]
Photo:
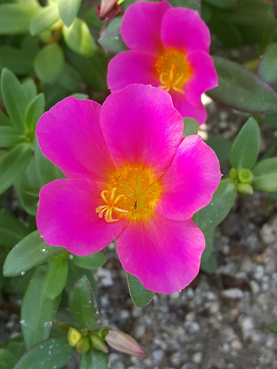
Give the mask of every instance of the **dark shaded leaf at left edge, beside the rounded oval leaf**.
[[30, 74], [34, 68], [34, 55], [12, 46], [0, 46], [0, 69], [9, 68], [17, 75]]

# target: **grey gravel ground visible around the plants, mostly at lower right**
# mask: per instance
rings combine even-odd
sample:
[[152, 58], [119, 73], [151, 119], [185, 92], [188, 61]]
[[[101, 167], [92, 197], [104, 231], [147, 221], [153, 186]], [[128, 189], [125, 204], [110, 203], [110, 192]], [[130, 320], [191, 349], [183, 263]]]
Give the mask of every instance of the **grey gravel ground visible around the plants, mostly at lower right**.
[[[209, 119], [201, 135], [233, 139], [247, 116], [205, 102]], [[262, 150], [272, 134], [262, 128]], [[222, 172], [228, 169], [225, 163]], [[107, 263], [96, 272], [103, 325], [131, 334], [146, 353], [137, 358], [111, 350], [111, 368], [277, 369], [277, 335], [267, 329], [277, 319], [276, 209], [276, 201], [262, 193], [238, 196], [216, 230], [221, 245], [216, 273], [201, 272], [182, 292], [156, 294], [143, 308], [131, 302], [125, 272], [110, 244], [104, 251]], [[0, 311], [0, 341], [18, 330], [17, 316]], [[74, 361], [68, 365], [77, 367]]]

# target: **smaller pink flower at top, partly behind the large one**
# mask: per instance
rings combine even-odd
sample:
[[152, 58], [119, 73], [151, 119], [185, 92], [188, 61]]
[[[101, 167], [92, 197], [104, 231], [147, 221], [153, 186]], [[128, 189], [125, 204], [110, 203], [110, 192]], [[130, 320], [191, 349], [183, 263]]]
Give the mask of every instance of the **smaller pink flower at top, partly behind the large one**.
[[210, 32], [199, 14], [167, 1], [138, 1], [124, 14], [121, 34], [130, 50], [110, 61], [110, 90], [129, 83], [160, 87], [171, 94], [182, 117], [204, 123], [201, 94], [217, 86], [217, 75], [208, 55]]

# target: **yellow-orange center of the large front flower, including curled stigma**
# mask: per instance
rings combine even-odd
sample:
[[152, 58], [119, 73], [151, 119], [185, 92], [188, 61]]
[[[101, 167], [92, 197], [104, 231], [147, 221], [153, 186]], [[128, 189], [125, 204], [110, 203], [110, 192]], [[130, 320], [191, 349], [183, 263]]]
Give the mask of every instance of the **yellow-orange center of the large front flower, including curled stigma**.
[[154, 213], [153, 207], [161, 194], [161, 184], [149, 168], [142, 165], [124, 166], [109, 176], [106, 189], [100, 193], [105, 203], [95, 210], [99, 218], [105, 214], [108, 223], [119, 217], [146, 220]]

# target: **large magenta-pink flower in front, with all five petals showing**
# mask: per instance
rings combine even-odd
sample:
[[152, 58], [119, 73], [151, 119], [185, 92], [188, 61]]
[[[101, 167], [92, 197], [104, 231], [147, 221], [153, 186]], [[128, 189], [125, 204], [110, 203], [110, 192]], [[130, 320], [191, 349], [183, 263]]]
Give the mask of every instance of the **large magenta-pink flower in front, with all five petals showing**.
[[116, 238], [123, 268], [152, 291], [172, 293], [199, 271], [205, 247], [191, 220], [220, 180], [213, 150], [192, 135], [164, 90], [129, 85], [101, 107], [68, 97], [40, 118], [38, 142], [66, 179], [42, 187], [45, 242], [76, 255]]

